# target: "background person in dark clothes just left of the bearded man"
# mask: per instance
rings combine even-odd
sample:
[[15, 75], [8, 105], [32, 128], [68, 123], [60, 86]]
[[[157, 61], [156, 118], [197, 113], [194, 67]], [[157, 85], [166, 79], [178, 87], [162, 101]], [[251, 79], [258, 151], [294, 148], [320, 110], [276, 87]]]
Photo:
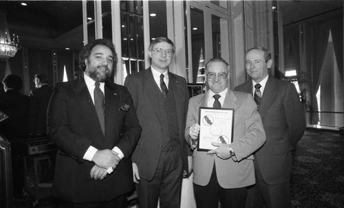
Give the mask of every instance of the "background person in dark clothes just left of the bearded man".
[[36, 89], [30, 92], [29, 128], [31, 135], [45, 135], [47, 131], [47, 105], [52, 95], [52, 86], [49, 85], [45, 73], [34, 76]]

